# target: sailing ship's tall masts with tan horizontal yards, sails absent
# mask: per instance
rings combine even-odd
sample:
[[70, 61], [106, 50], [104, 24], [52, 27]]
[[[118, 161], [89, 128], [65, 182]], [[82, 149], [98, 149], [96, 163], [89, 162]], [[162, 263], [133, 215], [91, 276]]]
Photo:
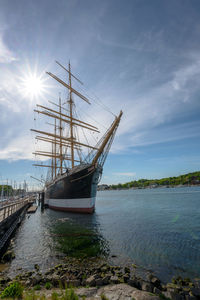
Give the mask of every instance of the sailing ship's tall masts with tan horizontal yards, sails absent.
[[[82, 143], [76, 139], [75, 136], [75, 130], [76, 127], [81, 127], [82, 129], [87, 129], [89, 131], [98, 132], [99, 130], [94, 125], [91, 125], [89, 123], [83, 122], [82, 120], [79, 120], [74, 117], [74, 101], [73, 101], [73, 94], [78, 96], [80, 99], [84, 100], [88, 104], [90, 104], [90, 101], [88, 98], [86, 98], [84, 95], [79, 93], [77, 90], [75, 90], [72, 87], [72, 77], [76, 79], [80, 84], [83, 84], [76, 76], [74, 76], [71, 72], [71, 65], [69, 62], [68, 69], [63, 67], [59, 62], [56, 61], [56, 63], [62, 67], [69, 76], [68, 83], [62, 81], [60, 78], [58, 78], [56, 75], [46, 72], [49, 76], [51, 76], [53, 79], [58, 81], [60, 84], [62, 84], [65, 88], [69, 90], [69, 98], [68, 98], [68, 104], [69, 104], [69, 110], [66, 114], [63, 110], [66, 111], [65, 108], [62, 107], [61, 104], [61, 97], [59, 96], [59, 104], [52, 103], [51, 104], [56, 105], [59, 107], [58, 111], [56, 109], [52, 109], [49, 107], [46, 107], [44, 105], [37, 104], [37, 109], [34, 111], [38, 114], [43, 114], [47, 117], [54, 119], [54, 124], [50, 124], [54, 126], [54, 132], [47, 132], [47, 131], [41, 131], [36, 129], [31, 129], [31, 131], [34, 131], [38, 133], [39, 135], [36, 136], [36, 139], [42, 142], [47, 142], [52, 144], [52, 150], [51, 152], [47, 151], [36, 151], [33, 154], [44, 156], [46, 158], [51, 158], [51, 165], [43, 165], [43, 164], [34, 164], [34, 166], [41, 166], [41, 167], [50, 167], [51, 168], [51, 179], [55, 178], [58, 174], [63, 174], [63, 172], [66, 171], [66, 167], [63, 166], [63, 161], [68, 160], [70, 162], [70, 167], [73, 169], [75, 166], [75, 163], [81, 163], [82, 160], [79, 157], [79, 160], [75, 158], [75, 150], [77, 153], [80, 151], [80, 147], [86, 147], [88, 149], [92, 150], [98, 150], [97, 147], [88, 145], [86, 143]], [[58, 121], [56, 121], [58, 120]], [[67, 124], [69, 126], [69, 136], [65, 136], [63, 133], [63, 124]], [[57, 130], [58, 128], [58, 130]], [[63, 150], [70, 148], [70, 155], [66, 155]], [[59, 171], [58, 171], [59, 170]]]

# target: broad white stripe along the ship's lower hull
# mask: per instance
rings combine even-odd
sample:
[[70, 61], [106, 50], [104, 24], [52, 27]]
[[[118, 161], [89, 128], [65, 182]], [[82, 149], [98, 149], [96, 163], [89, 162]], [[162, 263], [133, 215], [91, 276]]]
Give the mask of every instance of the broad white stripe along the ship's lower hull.
[[45, 204], [59, 208], [92, 208], [95, 206], [96, 197], [76, 199], [45, 199]]

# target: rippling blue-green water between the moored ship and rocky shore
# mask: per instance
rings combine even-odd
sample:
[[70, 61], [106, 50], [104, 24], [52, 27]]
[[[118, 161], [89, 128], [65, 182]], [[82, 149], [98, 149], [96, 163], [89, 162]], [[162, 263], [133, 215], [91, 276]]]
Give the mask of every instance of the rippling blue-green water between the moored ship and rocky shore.
[[101, 191], [93, 215], [38, 208], [14, 238], [9, 272], [35, 264], [45, 270], [84, 247], [115, 265], [152, 270], [164, 281], [200, 277], [200, 187]]

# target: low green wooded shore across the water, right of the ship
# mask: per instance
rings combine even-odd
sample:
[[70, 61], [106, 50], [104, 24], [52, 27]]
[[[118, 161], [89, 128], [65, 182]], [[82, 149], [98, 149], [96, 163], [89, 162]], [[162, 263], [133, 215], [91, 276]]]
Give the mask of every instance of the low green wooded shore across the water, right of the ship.
[[98, 190], [144, 189], [159, 187], [200, 186], [200, 171], [162, 179], [139, 179], [118, 184], [101, 184]]

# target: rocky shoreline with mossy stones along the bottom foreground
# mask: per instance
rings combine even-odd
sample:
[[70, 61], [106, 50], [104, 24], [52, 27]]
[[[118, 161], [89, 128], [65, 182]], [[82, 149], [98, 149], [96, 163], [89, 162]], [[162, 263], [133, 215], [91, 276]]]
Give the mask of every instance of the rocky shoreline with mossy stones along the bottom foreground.
[[[85, 299], [200, 299], [200, 279], [173, 278], [163, 284], [159, 278], [148, 273], [143, 279], [136, 275], [137, 266], [112, 266], [97, 258], [66, 258], [65, 262], [40, 272], [38, 265], [31, 272], [19, 270], [14, 278], [0, 273], [0, 289], [3, 291], [13, 282], [19, 282], [25, 289], [46, 291], [66, 286], [76, 289], [79, 297]], [[48, 288], [47, 288], [48, 287]], [[37, 293], [40, 293], [39, 291]], [[98, 298], [100, 297], [100, 298]], [[81, 298], [80, 298], [81, 299]]]

